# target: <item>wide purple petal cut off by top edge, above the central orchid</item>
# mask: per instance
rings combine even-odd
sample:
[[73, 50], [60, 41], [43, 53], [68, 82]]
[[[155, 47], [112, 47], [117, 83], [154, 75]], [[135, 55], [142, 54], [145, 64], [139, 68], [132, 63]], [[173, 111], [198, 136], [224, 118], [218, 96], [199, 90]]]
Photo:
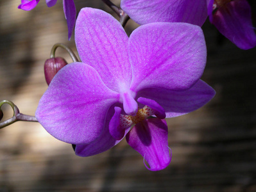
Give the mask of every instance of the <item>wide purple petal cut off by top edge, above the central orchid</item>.
[[188, 22], [202, 26], [207, 19], [205, 0], [121, 0], [121, 8], [138, 24]]

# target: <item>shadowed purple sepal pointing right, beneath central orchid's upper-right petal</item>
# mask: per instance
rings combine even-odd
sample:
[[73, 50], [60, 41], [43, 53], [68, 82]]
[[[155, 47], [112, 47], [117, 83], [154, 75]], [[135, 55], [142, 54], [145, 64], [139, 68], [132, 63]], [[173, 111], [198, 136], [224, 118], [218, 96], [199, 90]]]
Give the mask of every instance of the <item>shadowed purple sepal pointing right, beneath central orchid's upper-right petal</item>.
[[207, 83], [199, 80], [192, 88], [182, 92], [149, 88], [141, 90], [137, 97], [155, 100], [166, 111], [166, 118], [169, 118], [201, 108], [214, 97], [215, 93]]

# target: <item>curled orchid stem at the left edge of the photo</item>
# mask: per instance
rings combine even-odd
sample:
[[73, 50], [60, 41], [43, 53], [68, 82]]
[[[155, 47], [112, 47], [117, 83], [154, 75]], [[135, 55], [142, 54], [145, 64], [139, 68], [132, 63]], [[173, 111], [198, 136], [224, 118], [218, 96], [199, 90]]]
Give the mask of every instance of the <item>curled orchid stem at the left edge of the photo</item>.
[[[17, 108], [17, 106], [15, 104], [13, 104], [12, 101], [10, 100], [2, 100], [0, 102], [0, 117], [3, 117], [3, 111], [1, 110], [1, 106], [3, 106], [3, 104], [9, 104], [12, 109], [13, 109], [13, 116], [12, 118], [9, 118], [8, 120], [1, 122], [0, 123], [0, 129], [2, 129], [3, 127], [6, 127], [10, 124], [13, 124], [14, 122], [17, 121], [25, 121], [25, 122], [38, 122], [37, 118], [35, 116], [31, 116], [31, 115], [24, 115], [22, 113], [19, 112], [19, 108]], [[1, 119], [0, 119], [1, 120]]]

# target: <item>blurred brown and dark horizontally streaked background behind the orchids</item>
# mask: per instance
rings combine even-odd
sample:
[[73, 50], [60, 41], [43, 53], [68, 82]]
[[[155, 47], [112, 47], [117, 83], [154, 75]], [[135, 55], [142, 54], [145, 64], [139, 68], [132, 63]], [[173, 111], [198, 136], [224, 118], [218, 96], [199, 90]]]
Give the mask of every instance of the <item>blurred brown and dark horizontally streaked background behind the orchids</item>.
[[[101, 1], [74, 0], [114, 15]], [[113, 1], [119, 4], [119, 1]], [[30, 12], [19, 0], [0, 1], [0, 100], [12, 100], [21, 113], [35, 115], [47, 89], [44, 61], [67, 40], [62, 1], [47, 8], [44, 0]], [[250, 1], [256, 26], [256, 2]], [[115, 16], [115, 15], [114, 15]], [[128, 34], [138, 25], [129, 20]], [[122, 141], [92, 157], [74, 155], [35, 122], [16, 122], [0, 130], [0, 191], [256, 191], [256, 48], [244, 51], [203, 26], [208, 58], [203, 79], [216, 97], [188, 115], [167, 119], [171, 164], [150, 172], [143, 157]], [[69, 63], [63, 49], [57, 49]], [[12, 116], [7, 104], [4, 118]]]

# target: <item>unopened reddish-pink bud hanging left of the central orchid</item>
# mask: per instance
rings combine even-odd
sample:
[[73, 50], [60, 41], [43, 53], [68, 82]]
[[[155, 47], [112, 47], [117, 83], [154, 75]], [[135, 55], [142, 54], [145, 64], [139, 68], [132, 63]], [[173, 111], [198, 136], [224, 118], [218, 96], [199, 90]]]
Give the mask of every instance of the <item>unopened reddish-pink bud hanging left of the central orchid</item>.
[[53, 77], [57, 72], [67, 65], [67, 61], [64, 58], [50, 58], [44, 63], [44, 76], [46, 77], [46, 83], [49, 85]]

